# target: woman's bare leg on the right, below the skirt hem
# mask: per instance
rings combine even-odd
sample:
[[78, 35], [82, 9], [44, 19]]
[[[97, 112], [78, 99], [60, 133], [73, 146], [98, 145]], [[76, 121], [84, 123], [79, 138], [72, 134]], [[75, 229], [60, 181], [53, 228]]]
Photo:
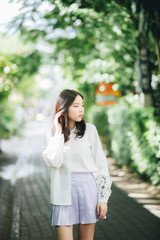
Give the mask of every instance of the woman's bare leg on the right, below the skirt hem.
[[95, 223], [78, 225], [78, 240], [93, 240]]

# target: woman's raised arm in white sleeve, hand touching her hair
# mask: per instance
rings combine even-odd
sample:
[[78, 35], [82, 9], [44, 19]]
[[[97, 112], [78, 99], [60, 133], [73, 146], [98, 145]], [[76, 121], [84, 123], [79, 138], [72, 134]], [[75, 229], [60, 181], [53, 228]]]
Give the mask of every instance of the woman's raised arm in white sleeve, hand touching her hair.
[[56, 113], [54, 119], [55, 133], [52, 136], [48, 131], [45, 134], [47, 140], [47, 146], [42, 152], [45, 163], [49, 167], [59, 168], [63, 162], [63, 147], [64, 147], [64, 134], [62, 134], [61, 123], [58, 122], [58, 118], [61, 116], [61, 112]]

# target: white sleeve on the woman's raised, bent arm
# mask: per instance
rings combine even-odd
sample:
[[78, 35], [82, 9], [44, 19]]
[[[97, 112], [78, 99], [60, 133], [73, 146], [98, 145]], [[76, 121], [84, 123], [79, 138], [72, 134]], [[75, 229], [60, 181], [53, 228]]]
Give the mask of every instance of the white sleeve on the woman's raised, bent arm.
[[49, 131], [45, 133], [46, 146], [42, 152], [43, 159], [49, 167], [59, 168], [63, 162], [64, 134], [51, 136]]

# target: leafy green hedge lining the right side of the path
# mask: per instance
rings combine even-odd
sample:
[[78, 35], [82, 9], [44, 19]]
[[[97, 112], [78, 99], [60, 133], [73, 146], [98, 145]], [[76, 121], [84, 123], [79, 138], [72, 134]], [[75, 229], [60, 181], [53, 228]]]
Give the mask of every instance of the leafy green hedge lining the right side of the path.
[[121, 99], [108, 111], [111, 150], [118, 165], [160, 183], [160, 126], [154, 108], [141, 108], [137, 96]]

